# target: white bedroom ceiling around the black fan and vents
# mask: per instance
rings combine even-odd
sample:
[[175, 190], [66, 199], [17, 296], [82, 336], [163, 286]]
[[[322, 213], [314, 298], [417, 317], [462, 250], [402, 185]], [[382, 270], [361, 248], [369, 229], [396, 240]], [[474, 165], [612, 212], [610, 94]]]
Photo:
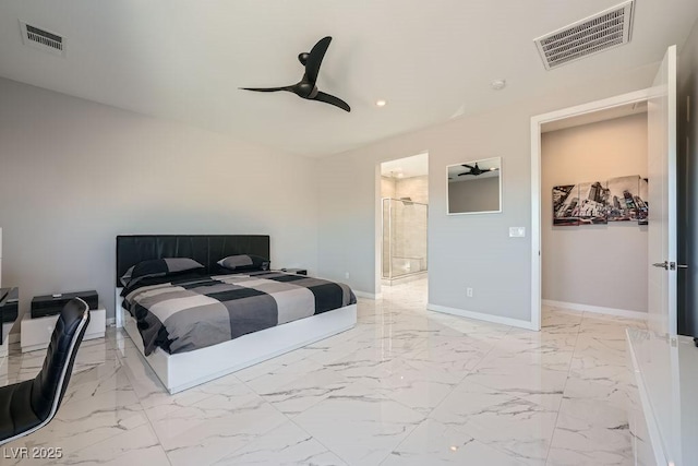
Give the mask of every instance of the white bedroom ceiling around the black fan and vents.
[[[322, 156], [659, 62], [698, 17], [696, 0], [637, 0], [630, 44], [544, 70], [534, 37], [616, 3], [3, 0], [0, 76]], [[23, 46], [19, 20], [64, 35], [67, 57]], [[298, 53], [325, 35], [317, 84], [350, 113], [238, 89], [296, 83]], [[500, 77], [507, 87], [492, 91]]]

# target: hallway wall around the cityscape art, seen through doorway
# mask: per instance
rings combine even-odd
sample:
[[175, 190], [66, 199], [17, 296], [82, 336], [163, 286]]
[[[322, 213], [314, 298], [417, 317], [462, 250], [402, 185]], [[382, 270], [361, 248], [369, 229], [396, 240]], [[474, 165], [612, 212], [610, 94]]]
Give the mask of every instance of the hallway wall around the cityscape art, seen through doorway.
[[543, 299], [647, 312], [647, 226], [637, 222], [552, 226], [558, 184], [647, 177], [647, 113], [541, 138]]

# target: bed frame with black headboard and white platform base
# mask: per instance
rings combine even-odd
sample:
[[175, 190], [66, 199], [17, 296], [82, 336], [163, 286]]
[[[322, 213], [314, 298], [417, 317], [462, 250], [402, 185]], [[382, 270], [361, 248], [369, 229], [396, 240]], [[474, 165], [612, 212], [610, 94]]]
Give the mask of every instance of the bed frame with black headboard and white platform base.
[[[354, 298], [353, 303], [338, 309], [322, 309], [321, 313], [246, 333], [200, 349], [185, 348], [183, 353], [170, 354], [169, 349], [165, 350], [160, 346], [149, 347], [147, 338], [145, 338], [144, 345], [144, 337], [137, 328], [136, 320], [122, 307], [123, 285], [120, 282], [120, 277], [130, 267], [142, 261], [190, 258], [204, 266], [198, 271], [202, 277], [205, 277], [202, 279], [218, 280], [222, 284], [216, 283], [217, 286], [226, 284], [238, 286], [241, 285], [241, 280], [248, 280], [248, 283], [249, 280], [264, 283], [272, 280], [275, 284], [284, 283], [284, 286], [287, 286], [287, 283], [312, 284], [313, 278], [305, 280], [304, 277], [280, 272], [261, 273], [261, 277], [255, 276], [254, 273], [243, 272], [237, 275], [233, 275], [232, 272], [221, 273], [217, 261], [233, 254], [254, 254], [269, 258], [269, 237], [264, 235], [130, 235], [117, 237], [117, 326], [123, 327], [140, 349], [144, 360], [171, 394], [327, 338], [353, 327], [357, 323]], [[186, 280], [189, 277], [178, 277], [177, 279]], [[172, 282], [167, 285], [178, 286], [178, 284], [179, 282]], [[128, 302], [127, 307], [129, 307]], [[142, 318], [140, 314], [139, 316]], [[280, 316], [279, 321], [282, 321]]]

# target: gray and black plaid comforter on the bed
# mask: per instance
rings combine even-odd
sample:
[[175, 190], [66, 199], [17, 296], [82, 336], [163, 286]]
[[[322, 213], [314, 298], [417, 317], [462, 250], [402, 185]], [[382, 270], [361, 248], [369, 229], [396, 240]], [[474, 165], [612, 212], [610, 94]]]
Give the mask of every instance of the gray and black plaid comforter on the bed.
[[357, 302], [341, 283], [280, 272], [160, 278], [124, 288], [145, 355], [191, 351]]

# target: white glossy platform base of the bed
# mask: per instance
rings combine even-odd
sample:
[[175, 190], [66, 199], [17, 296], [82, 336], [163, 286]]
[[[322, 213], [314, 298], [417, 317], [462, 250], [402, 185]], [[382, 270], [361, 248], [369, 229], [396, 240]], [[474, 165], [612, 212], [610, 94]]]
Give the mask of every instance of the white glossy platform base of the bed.
[[357, 304], [350, 304], [194, 351], [170, 355], [157, 348], [145, 356], [136, 322], [121, 308], [119, 292], [120, 289], [116, 300], [117, 326], [123, 325], [145, 362], [170, 394], [330, 337], [357, 324]]

